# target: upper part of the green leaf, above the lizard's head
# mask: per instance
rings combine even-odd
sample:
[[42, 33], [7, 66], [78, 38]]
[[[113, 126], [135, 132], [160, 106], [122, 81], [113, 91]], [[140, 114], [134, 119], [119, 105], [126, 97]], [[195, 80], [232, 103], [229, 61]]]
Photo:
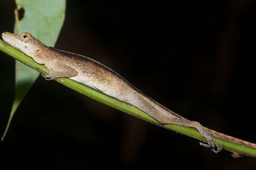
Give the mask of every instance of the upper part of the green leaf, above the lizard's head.
[[65, 0], [16, 0], [24, 8], [20, 32], [29, 32], [47, 46], [54, 46], [65, 17]]

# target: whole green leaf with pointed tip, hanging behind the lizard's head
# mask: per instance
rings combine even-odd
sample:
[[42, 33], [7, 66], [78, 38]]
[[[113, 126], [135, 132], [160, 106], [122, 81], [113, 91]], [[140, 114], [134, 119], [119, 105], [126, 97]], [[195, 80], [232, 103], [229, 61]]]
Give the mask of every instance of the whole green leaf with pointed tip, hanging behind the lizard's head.
[[[54, 46], [61, 31], [65, 18], [66, 0], [15, 0], [17, 8], [24, 9], [24, 17], [17, 21], [17, 32], [29, 32], [47, 46]], [[16, 29], [15, 29], [16, 30]], [[16, 33], [17, 33], [16, 32]], [[20, 102], [38, 78], [39, 73], [32, 68], [16, 61], [15, 99], [4, 139], [12, 117]]]

